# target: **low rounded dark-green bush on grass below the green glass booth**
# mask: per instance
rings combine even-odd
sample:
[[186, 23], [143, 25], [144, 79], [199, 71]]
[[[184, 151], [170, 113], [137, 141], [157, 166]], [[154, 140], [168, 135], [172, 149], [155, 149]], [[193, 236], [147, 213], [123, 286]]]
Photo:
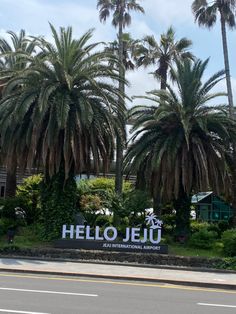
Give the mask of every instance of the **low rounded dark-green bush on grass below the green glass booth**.
[[190, 240], [189, 245], [199, 249], [210, 249], [214, 246], [218, 235], [214, 231], [208, 231], [207, 229], [200, 229], [195, 232]]

